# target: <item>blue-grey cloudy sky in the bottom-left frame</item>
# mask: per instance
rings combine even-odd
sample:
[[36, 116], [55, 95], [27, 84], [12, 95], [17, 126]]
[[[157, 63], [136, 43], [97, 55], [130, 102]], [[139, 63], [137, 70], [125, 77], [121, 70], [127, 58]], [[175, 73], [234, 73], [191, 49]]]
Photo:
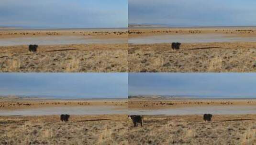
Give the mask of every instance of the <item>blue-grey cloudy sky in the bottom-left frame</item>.
[[0, 73], [0, 95], [127, 98], [128, 73]]

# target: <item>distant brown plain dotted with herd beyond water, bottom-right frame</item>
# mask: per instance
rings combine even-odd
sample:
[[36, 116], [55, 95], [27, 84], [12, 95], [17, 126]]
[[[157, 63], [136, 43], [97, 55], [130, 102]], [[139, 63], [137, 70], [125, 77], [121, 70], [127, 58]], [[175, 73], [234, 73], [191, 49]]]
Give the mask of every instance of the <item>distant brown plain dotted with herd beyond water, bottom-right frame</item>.
[[128, 101], [130, 109], [177, 109], [181, 107], [211, 107], [211, 106], [254, 106], [256, 99], [245, 98], [164, 98], [161, 96], [137, 96]]

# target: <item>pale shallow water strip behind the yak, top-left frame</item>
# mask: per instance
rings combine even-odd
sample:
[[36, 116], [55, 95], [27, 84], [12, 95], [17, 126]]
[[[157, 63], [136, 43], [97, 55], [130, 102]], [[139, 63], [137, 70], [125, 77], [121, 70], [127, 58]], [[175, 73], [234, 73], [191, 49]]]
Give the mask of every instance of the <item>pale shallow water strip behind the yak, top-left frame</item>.
[[92, 39], [83, 36], [41, 36], [0, 39], [0, 46], [14, 45], [61, 45], [61, 44], [89, 44], [89, 43], [127, 43], [127, 39]]

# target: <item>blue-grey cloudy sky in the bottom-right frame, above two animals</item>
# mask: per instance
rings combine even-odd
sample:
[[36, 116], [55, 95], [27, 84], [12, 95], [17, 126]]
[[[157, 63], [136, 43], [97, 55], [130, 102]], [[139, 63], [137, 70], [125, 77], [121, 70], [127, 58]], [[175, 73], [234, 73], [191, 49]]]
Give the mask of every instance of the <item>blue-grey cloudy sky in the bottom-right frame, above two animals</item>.
[[129, 95], [255, 97], [256, 73], [129, 73]]

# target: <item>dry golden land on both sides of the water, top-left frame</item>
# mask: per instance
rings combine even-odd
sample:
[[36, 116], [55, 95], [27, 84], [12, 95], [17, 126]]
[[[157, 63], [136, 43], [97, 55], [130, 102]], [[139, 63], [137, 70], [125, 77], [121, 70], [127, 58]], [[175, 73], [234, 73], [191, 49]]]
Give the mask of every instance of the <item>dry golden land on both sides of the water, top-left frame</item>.
[[[124, 30], [0, 31], [0, 39], [41, 36], [84, 36], [89, 39], [126, 39]], [[85, 38], [86, 39], [86, 38]], [[127, 72], [126, 43], [0, 46], [0, 72]]]

